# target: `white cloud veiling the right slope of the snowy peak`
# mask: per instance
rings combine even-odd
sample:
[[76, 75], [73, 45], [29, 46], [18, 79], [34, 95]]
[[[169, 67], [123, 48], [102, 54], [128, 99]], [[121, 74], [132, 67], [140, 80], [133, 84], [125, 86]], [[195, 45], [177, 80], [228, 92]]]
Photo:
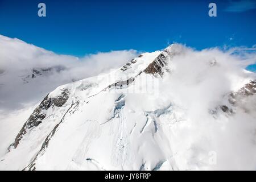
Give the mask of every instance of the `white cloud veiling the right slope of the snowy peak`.
[[[256, 60], [256, 53], [248, 50], [251, 49], [237, 47], [224, 52], [218, 48], [185, 48], [172, 58], [171, 74], [159, 85], [165, 95], [156, 103], [172, 103], [181, 108], [177, 112], [183, 114], [181, 122], [168, 130], [179, 169], [255, 169], [256, 96], [237, 101], [236, 114], [220, 109], [216, 115], [210, 113], [221, 105], [232, 107], [225, 96], [256, 78], [255, 73], [243, 69]], [[215, 165], [208, 163], [210, 151], [217, 155]]]

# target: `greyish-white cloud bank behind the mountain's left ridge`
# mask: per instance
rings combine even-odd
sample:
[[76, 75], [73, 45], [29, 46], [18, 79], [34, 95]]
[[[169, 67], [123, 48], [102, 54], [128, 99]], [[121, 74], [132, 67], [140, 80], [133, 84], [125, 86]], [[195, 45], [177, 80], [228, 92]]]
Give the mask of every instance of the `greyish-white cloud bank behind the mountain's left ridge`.
[[[0, 35], [0, 111], [36, 104], [59, 85], [109, 72], [137, 55], [135, 50], [98, 52], [81, 58], [57, 55]], [[33, 73], [33, 69], [40, 73]]]

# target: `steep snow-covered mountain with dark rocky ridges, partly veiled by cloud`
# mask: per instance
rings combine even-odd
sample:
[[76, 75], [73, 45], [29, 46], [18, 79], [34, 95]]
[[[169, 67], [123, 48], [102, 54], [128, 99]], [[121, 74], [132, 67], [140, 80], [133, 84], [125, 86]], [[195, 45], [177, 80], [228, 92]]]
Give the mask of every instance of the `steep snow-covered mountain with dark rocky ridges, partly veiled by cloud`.
[[0, 169], [255, 169], [255, 75], [239, 64], [174, 44], [59, 86]]

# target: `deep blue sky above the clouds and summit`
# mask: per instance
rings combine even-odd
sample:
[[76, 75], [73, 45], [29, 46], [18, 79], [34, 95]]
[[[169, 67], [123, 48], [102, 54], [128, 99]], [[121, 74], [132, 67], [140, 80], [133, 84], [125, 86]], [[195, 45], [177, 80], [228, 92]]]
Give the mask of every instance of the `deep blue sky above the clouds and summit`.
[[[47, 16], [38, 16], [44, 2]], [[217, 17], [208, 16], [210, 2]], [[256, 44], [255, 1], [0, 0], [0, 34], [56, 53]]]

